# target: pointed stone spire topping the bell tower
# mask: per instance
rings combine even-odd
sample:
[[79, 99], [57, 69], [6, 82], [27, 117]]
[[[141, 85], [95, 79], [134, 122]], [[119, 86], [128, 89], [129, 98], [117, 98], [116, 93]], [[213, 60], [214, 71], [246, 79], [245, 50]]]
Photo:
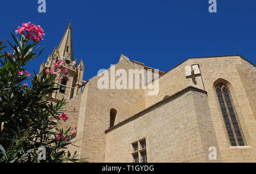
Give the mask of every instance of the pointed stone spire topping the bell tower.
[[71, 63], [73, 61], [73, 44], [71, 30], [72, 26], [70, 23], [57, 48], [57, 50], [59, 51], [60, 59], [66, 63]]

